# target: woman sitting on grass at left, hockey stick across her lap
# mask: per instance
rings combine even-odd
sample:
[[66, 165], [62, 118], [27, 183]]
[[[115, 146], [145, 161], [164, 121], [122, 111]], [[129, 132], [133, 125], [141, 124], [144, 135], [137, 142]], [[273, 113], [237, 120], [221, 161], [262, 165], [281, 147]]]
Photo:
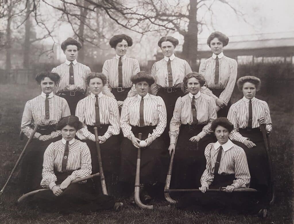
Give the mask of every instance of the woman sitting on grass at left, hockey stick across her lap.
[[34, 195], [33, 202], [40, 208], [69, 213], [111, 208], [117, 210], [122, 206], [112, 196], [93, 194], [91, 181], [71, 184], [71, 181], [87, 177], [92, 172], [87, 144], [74, 138], [82, 127], [83, 124], [76, 116], [61, 118], [56, 125], [63, 138], [52, 142], [44, 153], [41, 186], [51, 191], [39, 191]]

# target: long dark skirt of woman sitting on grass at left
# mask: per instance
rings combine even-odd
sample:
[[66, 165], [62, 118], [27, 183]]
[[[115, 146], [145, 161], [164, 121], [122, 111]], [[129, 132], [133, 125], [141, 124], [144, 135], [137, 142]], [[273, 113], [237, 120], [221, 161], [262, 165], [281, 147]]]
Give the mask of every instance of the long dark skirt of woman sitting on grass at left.
[[[61, 184], [71, 173], [55, 173], [56, 184]], [[92, 180], [88, 179], [86, 183], [70, 184], [59, 196], [55, 196], [51, 190], [39, 191], [34, 195], [33, 202], [41, 209], [72, 213], [112, 209], [115, 200], [113, 196], [95, 194]]]

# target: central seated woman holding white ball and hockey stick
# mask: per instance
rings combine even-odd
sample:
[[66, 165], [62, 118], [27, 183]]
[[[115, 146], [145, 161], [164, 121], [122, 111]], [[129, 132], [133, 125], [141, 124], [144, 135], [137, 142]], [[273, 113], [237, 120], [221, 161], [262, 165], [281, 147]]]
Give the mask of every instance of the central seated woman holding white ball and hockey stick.
[[[161, 156], [166, 154], [161, 138], [166, 127], [166, 107], [160, 96], [148, 93], [154, 79], [147, 72], [138, 72], [131, 77], [131, 81], [135, 84], [138, 94], [127, 98], [121, 111], [121, 130], [125, 138], [121, 143], [119, 180], [130, 184], [135, 182], [136, 149], [140, 147], [138, 133], [142, 133], [142, 140], [145, 140], [147, 145], [141, 150], [140, 182], [142, 184], [164, 183], [166, 172], [161, 167], [160, 160]], [[143, 196], [145, 202], [151, 199], [146, 192]]]

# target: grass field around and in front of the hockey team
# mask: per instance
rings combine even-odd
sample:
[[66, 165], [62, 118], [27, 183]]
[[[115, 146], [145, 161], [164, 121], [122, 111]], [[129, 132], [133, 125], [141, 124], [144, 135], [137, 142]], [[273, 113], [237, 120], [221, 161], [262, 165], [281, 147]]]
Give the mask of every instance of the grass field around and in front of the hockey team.
[[[0, 198], [0, 223], [293, 223], [293, 82], [276, 83], [270, 96], [257, 97], [269, 104], [273, 121], [270, 137], [273, 170], [275, 177], [276, 200], [269, 210], [269, 217], [260, 220], [251, 215], [217, 213], [211, 211], [180, 211], [164, 201], [154, 202], [153, 211], [126, 206], [119, 212], [101, 211], [90, 215], [43, 213], [26, 206], [16, 206], [19, 198], [19, 171], [15, 173], [2, 198]], [[27, 100], [40, 94], [35, 87], [24, 85], [0, 85], [0, 186], [8, 178], [25, 141], [19, 140], [21, 116]], [[241, 98], [233, 93], [233, 102]], [[123, 202], [125, 200], [121, 199]]]

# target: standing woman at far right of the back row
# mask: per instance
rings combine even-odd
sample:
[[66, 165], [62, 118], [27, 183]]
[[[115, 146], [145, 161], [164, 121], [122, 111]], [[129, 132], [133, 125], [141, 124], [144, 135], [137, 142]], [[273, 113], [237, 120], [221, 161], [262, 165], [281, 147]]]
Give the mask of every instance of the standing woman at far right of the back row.
[[216, 101], [218, 117], [227, 117], [231, 105], [231, 95], [237, 77], [237, 62], [223, 54], [223, 47], [228, 45], [229, 38], [220, 32], [214, 32], [207, 38], [212, 57], [200, 64], [199, 73], [206, 79], [202, 92]]

